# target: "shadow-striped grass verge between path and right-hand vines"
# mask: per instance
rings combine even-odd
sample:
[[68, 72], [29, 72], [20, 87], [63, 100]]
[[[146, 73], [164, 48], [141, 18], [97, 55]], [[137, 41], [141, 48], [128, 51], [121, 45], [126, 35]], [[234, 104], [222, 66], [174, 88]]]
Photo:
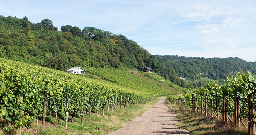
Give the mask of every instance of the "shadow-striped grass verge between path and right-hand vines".
[[181, 109], [168, 101], [166, 105], [173, 109], [179, 117], [177, 120], [180, 122], [176, 126], [186, 128], [193, 135], [248, 135], [248, 131], [243, 125], [241, 125], [241, 128], [234, 128], [231, 122], [228, 125], [222, 125], [221, 120], [216, 121], [215, 117], [213, 119], [206, 118], [201, 113], [197, 114], [197, 112], [193, 113], [190, 109]]

